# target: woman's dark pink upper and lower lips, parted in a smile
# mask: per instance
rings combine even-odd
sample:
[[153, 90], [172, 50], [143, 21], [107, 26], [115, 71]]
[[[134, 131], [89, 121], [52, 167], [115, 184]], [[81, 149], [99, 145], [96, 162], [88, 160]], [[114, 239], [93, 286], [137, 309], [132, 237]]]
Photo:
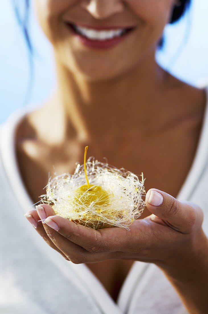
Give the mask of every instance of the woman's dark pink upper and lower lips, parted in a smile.
[[74, 30], [73, 24], [66, 22], [67, 27], [70, 29], [71, 33], [75, 36], [75, 38], [77, 38], [77, 40], [79, 40], [83, 45], [88, 46], [90, 48], [97, 48], [97, 49], [106, 49], [106, 48], [115, 46], [116, 44], [123, 41], [131, 33], [131, 31], [135, 29], [135, 26], [118, 26], [118, 25], [117, 26], [90, 26], [86, 24], [76, 23], [77, 26], [86, 27], [86, 28], [94, 29], [94, 30], [109, 30], [109, 29], [116, 30], [116, 29], [121, 29], [121, 28], [127, 29], [127, 32], [119, 37], [114, 37], [112, 39], [100, 41], [100, 40], [91, 40], [89, 38], [82, 36], [81, 34], [78, 34]]

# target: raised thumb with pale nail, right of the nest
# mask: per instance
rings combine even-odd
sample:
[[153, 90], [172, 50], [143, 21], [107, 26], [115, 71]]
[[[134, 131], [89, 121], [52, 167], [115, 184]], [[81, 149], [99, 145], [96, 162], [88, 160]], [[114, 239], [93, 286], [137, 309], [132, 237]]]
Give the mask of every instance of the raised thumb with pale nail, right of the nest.
[[203, 219], [202, 210], [196, 204], [180, 202], [157, 189], [150, 189], [147, 192], [145, 204], [152, 214], [183, 233], [189, 233], [196, 224], [200, 225]]

